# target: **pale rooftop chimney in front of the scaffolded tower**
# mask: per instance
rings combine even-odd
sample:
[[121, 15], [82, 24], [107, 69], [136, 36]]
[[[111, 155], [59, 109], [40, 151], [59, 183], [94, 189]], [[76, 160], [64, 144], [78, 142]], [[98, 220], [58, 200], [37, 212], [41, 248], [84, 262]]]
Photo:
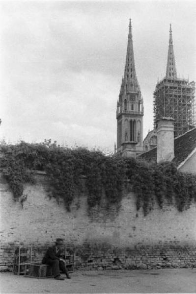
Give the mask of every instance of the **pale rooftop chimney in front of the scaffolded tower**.
[[157, 121], [157, 163], [174, 158], [174, 135], [172, 118]]

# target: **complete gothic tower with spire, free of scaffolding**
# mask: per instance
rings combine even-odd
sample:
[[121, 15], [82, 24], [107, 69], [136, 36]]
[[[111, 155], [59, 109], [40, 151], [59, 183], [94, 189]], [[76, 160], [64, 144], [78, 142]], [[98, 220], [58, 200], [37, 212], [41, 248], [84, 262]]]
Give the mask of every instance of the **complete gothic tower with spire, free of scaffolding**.
[[125, 71], [117, 101], [116, 119], [117, 154], [136, 157], [143, 151], [143, 99], [135, 69], [131, 19]]

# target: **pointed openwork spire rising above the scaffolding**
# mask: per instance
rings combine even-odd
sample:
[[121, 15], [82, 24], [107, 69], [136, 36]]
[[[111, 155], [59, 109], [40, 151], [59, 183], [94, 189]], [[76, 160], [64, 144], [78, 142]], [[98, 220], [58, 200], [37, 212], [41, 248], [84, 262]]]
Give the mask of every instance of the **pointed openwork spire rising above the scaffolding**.
[[175, 57], [173, 52], [171, 24], [169, 28], [169, 47], [168, 47], [168, 63], [167, 63], [166, 77], [177, 78], [176, 67], [175, 67]]

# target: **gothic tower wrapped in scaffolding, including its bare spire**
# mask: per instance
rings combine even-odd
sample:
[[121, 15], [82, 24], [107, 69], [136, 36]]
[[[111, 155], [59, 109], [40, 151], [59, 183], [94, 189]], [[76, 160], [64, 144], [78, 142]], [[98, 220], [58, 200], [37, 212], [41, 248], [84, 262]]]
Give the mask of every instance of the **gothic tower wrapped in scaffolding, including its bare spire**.
[[177, 78], [170, 25], [166, 76], [157, 83], [154, 92], [155, 128], [157, 120], [171, 117], [174, 119], [174, 137], [191, 129], [196, 124], [194, 100], [195, 82]]

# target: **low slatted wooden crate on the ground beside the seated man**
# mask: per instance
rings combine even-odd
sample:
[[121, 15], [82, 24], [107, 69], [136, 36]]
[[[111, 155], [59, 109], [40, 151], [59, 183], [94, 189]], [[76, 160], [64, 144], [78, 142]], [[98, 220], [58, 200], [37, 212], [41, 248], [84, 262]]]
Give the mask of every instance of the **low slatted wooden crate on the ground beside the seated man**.
[[28, 274], [28, 277], [36, 278], [50, 278], [54, 277], [52, 266], [44, 264], [31, 264]]

